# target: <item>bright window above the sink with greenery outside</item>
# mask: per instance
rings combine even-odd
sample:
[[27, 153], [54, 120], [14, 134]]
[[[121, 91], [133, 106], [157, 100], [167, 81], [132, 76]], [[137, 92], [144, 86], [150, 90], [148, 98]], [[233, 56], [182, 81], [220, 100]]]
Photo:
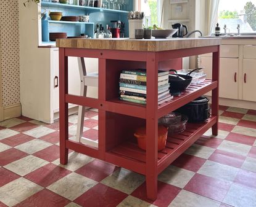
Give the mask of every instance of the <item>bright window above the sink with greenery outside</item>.
[[218, 23], [221, 33], [226, 25], [227, 33], [256, 33], [256, 0], [220, 0], [218, 6]]

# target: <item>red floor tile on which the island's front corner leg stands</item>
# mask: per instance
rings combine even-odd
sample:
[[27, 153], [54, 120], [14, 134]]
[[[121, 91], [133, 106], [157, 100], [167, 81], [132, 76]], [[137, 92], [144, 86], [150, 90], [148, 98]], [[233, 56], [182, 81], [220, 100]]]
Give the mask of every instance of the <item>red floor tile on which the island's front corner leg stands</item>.
[[136, 190], [134, 190], [131, 195], [137, 197], [141, 200], [147, 201], [148, 203], [152, 203], [155, 206], [159, 207], [167, 207], [170, 205], [171, 201], [180, 193], [181, 189], [175, 186], [171, 186], [170, 184], [164, 182], [157, 182], [157, 200], [152, 201], [147, 198], [146, 194], [146, 182], [144, 182], [141, 186], [139, 186]]

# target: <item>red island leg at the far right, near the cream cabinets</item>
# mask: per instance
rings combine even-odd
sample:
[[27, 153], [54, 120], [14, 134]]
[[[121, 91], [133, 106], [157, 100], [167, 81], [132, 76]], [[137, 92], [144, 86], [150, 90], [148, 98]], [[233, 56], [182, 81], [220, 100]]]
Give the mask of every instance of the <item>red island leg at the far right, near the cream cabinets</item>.
[[220, 85], [220, 46], [218, 51], [213, 52], [212, 56], [212, 80], [218, 81], [217, 88], [212, 90], [212, 115], [217, 116], [217, 123], [212, 126], [212, 134], [218, 135], [218, 99], [219, 99], [219, 85]]

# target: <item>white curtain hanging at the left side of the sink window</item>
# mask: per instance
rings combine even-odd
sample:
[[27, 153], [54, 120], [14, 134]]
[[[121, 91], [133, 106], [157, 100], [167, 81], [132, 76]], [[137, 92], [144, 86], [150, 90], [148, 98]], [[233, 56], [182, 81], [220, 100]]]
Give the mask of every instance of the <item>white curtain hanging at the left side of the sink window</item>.
[[218, 4], [220, 0], [206, 0], [205, 1], [205, 17], [206, 25], [205, 30], [208, 35], [211, 35], [215, 26], [215, 20], [218, 15]]

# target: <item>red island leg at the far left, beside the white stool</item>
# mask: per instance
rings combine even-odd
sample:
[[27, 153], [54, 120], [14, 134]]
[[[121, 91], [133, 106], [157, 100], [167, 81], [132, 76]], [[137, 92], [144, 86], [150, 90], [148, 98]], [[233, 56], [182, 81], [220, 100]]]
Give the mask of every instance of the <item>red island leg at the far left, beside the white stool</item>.
[[59, 122], [60, 122], [60, 163], [66, 165], [68, 162], [68, 103], [65, 102], [65, 95], [68, 93], [68, 57], [65, 56], [65, 49], [59, 49]]

